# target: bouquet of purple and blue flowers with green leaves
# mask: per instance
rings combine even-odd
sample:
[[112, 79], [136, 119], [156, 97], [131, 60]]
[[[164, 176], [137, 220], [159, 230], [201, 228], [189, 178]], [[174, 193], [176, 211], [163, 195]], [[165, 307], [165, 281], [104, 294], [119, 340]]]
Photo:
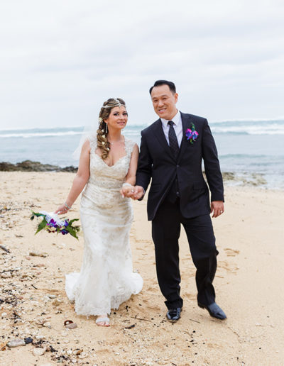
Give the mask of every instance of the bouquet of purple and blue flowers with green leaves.
[[32, 211], [31, 220], [33, 220], [36, 217], [42, 217], [42, 221], [38, 224], [37, 231], [35, 231], [35, 234], [37, 234], [41, 230], [46, 230], [48, 233], [62, 233], [62, 235], [70, 234], [74, 236], [74, 238], [78, 239], [77, 232], [80, 231], [80, 226], [73, 226], [72, 223], [74, 221], [78, 221], [79, 218], [73, 218], [72, 220], [69, 220], [68, 218], [61, 219], [57, 214], [53, 214], [53, 212], [46, 212], [46, 211], [40, 211], [40, 212], [33, 212]]

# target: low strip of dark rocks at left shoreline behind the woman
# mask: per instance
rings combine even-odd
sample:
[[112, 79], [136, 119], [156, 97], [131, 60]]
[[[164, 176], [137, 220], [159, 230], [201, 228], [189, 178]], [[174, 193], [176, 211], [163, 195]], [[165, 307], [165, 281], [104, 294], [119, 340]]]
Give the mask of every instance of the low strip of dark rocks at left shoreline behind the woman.
[[0, 162], [1, 172], [77, 172], [77, 167], [58, 167], [58, 165], [42, 164], [25, 160], [12, 164], [11, 162]]

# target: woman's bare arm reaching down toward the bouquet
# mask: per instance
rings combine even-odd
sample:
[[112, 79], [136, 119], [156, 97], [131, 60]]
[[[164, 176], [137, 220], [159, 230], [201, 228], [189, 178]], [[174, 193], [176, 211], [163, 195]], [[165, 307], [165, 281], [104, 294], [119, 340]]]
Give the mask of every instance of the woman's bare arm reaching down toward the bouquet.
[[89, 140], [86, 140], [84, 145], [82, 145], [78, 171], [73, 180], [72, 188], [67, 196], [67, 200], [65, 201], [65, 204], [58, 207], [55, 214], [66, 214], [87, 184], [89, 179], [89, 150]]

